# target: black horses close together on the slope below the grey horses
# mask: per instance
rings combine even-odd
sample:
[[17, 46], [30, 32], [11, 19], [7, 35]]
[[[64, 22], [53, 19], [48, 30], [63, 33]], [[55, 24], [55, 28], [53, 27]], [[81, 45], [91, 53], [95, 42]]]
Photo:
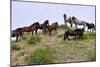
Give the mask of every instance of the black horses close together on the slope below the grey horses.
[[68, 36], [75, 36], [75, 39], [76, 37], [80, 38], [81, 36], [83, 36], [83, 32], [84, 32], [84, 28], [82, 29], [79, 28], [75, 30], [67, 30], [64, 33], [64, 40], [66, 40], [66, 38], [69, 39]]

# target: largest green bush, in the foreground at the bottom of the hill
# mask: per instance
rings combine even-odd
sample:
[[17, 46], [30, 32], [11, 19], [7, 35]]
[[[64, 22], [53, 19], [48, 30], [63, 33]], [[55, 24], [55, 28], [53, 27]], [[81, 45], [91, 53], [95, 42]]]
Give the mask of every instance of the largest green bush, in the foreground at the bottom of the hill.
[[25, 58], [27, 64], [49, 64], [53, 63], [54, 55], [51, 49], [41, 48], [35, 50], [30, 56]]

